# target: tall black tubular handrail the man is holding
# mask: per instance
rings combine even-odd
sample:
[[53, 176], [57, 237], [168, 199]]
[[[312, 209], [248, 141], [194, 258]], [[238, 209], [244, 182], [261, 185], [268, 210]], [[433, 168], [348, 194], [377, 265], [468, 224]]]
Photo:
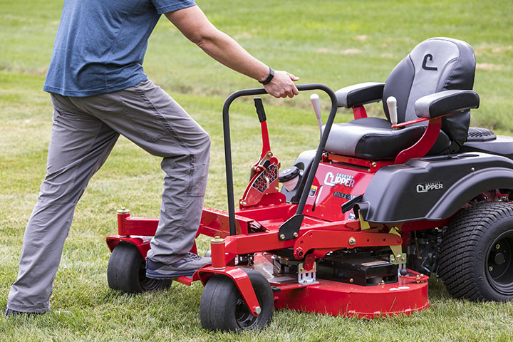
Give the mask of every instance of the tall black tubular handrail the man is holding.
[[[331, 110], [328, 115], [328, 120], [326, 121], [326, 125], [324, 126], [324, 132], [321, 136], [321, 142], [319, 142], [316, 155], [314, 157], [314, 161], [312, 162], [311, 169], [309, 172], [309, 176], [306, 179], [306, 184], [304, 186], [303, 193], [301, 194], [301, 199], [299, 199], [299, 204], [296, 210], [296, 214], [291, 217], [288, 221], [281, 225], [279, 228], [279, 236], [281, 240], [286, 239], [294, 239], [294, 232], [299, 232], [299, 227], [301, 227], [301, 222], [303, 222], [303, 209], [306, 204], [306, 198], [308, 197], [310, 188], [312, 183], [314, 182], [314, 176], [317, 171], [317, 167], [319, 162], [321, 161], [322, 153], [324, 147], [326, 146], [326, 141], [328, 140], [328, 135], [331, 130], [331, 125], [333, 125], [333, 120], [335, 119], [336, 111], [337, 111], [337, 99], [336, 95], [328, 86], [324, 86], [323, 84], [303, 84], [297, 86], [299, 91], [305, 90], [323, 90], [327, 93], [331, 99]], [[230, 140], [230, 130], [229, 130], [229, 106], [232, 105], [232, 102], [236, 98], [240, 98], [242, 96], [250, 96], [250, 95], [263, 95], [266, 94], [266, 90], [264, 88], [256, 88], [256, 89], [244, 89], [236, 91], [229, 95], [226, 101], [224, 101], [223, 105], [223, 133], [224, 133], [224, 160], [226, 162], [226, 175], [227, 175], [227, 197], [228, 197], [228, 214], [229, 214], [229, 231], [230, 235], [237, 234], [235, 229], [235, 204], [234, 204], [234, 190], [233, 190], [233, 170], [232, 170], [232, 142]]]

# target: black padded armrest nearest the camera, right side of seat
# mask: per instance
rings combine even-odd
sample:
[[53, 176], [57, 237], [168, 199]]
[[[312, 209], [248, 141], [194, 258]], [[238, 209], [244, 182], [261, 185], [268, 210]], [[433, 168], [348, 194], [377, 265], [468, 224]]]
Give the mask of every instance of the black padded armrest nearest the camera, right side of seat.
[[479, 95], [472, 90], [445, 90], [423, 96], [415, 101], [419, 118], [438, 118], [442, 115], [478, 108]]

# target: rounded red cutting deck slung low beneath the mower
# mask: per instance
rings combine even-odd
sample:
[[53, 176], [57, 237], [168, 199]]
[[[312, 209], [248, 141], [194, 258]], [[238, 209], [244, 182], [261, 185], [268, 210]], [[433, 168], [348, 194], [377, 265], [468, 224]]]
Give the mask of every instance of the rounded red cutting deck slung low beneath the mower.
[[[352, 318], [409, 315], [427, 309], [427, 276], [408, 269], [413, 277], [400, 277], [391, 284], [358, 286], [340, 281], [316, 279], [314, 284], [299, 284], [296, 274], [278, 274], [272, 255], [255, 254], [252, 266], [266, 276], [274, 292], [274, 308], [329, 314]], [[418, 277], [417, 277], [418, 276]], [[198, 277], [182, 276], [178, 282], [190, 285]]]

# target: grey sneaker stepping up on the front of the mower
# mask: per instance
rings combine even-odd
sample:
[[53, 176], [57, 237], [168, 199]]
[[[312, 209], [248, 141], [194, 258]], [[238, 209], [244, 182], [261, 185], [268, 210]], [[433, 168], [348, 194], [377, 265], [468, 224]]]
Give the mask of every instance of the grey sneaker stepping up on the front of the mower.
[[212, 259], [199, 257], [193, 253], [187, 255], [175, 264], [168, 265], [162, 262], [146, 259], [146, 276], [154, 279], [170, 279], [179, 276], [192, 276], [195, 271], [204, 265], [210, 264]]

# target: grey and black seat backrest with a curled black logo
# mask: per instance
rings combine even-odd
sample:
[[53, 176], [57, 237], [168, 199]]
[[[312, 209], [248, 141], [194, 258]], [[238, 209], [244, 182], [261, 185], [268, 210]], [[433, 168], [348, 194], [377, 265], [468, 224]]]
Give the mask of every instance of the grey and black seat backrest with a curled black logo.
[[[430, 38], [415, 46], [395, 66], [383, 89], [383, 110], [390, 120], [386, 99], [397, 99], [398, 122], [417, 119], [415, 101], [442, 90], [472, 90], [475, 75], [475, 54], [472, 47], [452, 38]], [[459, 150], [467, 140], [470, 111], [442, 118], [442, 130], [451, 139], [451, 152]]]

